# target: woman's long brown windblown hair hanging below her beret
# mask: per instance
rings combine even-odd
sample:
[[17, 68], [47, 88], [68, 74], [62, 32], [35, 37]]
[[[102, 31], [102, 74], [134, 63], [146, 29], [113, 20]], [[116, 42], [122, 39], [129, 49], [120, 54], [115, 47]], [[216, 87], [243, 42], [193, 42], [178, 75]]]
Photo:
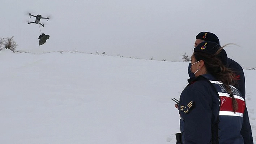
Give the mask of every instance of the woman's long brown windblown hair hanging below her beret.
[[219, 50], [213, 55], [202, 52], [194, 52], [194, 56], [196, 58], [196, 61], [204, 61], [206, 73], [212, 74], [214, 78], [223, 83], [227, 93], [229, 93], [230, 97], [232, 98], [233, 111], [236, 112], [236, 110], [238, 110], [238, 103], [230, 87], [230, 85], [237, 84], [234, 78], [234, 71], [228, 69], [225, 65], [223, 65], [222, 61], [218, 58], [218, 55], [222, 51], [223, 47], [219, 48]]

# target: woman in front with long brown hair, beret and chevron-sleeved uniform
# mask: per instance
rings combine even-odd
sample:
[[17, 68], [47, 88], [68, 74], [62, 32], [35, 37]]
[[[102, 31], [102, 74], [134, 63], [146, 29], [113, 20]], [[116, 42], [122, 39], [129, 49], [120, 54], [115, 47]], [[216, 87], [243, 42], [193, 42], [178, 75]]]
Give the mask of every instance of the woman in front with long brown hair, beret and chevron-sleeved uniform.
[[188, 86], [180, 95], [182, 144], [253, 144], [243, 95], [234, 86], [235, 74], [218, 43], [203, 41], [191, 56]]

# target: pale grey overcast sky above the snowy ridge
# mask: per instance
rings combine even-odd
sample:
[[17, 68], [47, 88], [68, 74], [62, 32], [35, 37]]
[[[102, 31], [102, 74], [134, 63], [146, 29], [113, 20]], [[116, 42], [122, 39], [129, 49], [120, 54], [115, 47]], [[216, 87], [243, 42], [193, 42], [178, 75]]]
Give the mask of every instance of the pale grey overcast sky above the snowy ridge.
[[[215, 33], [242, 67], [256, 67], [255, 0], [2, 0], [0, 37], [14, 36], [16, 49], [50, 52], [77, 49], [88, 53], [182, 61], [192, 54], [195, 36]], [[50, 39], [38, 46], [39, 26]]]

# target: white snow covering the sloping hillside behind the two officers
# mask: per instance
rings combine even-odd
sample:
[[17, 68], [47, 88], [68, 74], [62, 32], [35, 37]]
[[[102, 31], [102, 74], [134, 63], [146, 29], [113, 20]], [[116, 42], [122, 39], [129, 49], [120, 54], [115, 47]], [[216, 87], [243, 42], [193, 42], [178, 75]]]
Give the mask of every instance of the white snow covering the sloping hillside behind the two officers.
[[[175, 143], [188, 62], [0, 51], [3, 144]], [[244, 70], [253, 132], [256, 70]]]

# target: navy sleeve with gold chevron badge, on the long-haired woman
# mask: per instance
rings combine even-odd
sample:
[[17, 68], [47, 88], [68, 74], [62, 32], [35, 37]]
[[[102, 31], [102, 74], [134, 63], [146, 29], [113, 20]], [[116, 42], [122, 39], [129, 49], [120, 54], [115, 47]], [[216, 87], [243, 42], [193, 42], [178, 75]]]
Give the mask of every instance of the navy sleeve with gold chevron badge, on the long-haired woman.
[[207, 144], [211, 141], [212, 98], [210, 94], [205, 95], [204, 93], [209, 92], [183, 91], [180, 96], [179, 110], [184, 119], [185, 144]]

